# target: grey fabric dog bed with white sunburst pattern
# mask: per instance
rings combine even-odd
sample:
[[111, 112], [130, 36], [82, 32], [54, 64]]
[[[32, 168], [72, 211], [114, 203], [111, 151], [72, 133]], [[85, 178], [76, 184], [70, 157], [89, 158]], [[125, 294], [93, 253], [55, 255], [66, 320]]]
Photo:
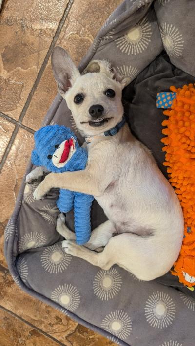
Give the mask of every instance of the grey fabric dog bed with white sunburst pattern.
[[[160, 142], [164, 116], [156, 109], [156, 94], [195, 82], [194, 18], [194, 0], [126, 0], [79, 65], [83, 71], [92, 59], [108, 59], [128, 78], [125, 116], [165, 176]], [[83, 142], [59, 95], [43, 125], [55, 123], [71, 127]], [[32, 168], [29, 164], [26, 174]], [[170, 273], [144, 282], [117, 265], [104, 271], [66, 254], [56, 232], [58, 190], [35, 201], [36, 186], [23, 182], [5, 231], [7, 263], [20, 288], [118, 345], [194, 346], [194, 292]], [[93, 228], [105, 219], [94, 202]], [[72, 228], [72, 213], [66, 221]]]

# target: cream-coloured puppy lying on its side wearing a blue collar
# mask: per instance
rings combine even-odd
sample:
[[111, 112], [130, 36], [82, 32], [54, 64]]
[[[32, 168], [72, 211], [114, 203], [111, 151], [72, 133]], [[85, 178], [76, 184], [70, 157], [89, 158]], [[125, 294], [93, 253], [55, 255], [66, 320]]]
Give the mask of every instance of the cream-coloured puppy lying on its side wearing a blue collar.
[[[179, 255], [183, 214], [150, 151], [122, 121], [126, 78], [101, 60], [92, 61], [80, 74], [61, 47], [52, 53], [52, 69], [58, 91], [88, 142], [88, 164], [82, 171], [46, 175], [34, 198], [43, 198], [53, 187], [93, 195], [108, 220], [92, 232], [85, 246], [79, 246], [60, 215], [57, 231], [66, 239], [62, 242], [66, 253], [104, 270], [117, 264], [140, 280], [162, 276]], [[27, 181], [35, 176], [30, 173]], [[103, 251], [93, 251], [101, 247]]]

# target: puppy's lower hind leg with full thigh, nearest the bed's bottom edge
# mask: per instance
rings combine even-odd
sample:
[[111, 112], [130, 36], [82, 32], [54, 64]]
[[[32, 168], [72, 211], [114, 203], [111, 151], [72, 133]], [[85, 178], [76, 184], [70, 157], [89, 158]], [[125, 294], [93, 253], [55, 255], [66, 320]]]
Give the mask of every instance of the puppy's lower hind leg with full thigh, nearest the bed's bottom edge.
[[[118, 264], [138, 279], [148, 281], [168, 272], [173, 264], [169, 259], [169, 253], [163, 254], [160, 247], [156, 258], [155, 244], [150, 236], [123, 233], [112, 237], [101, 253], [90, 251], [69, 240], [63, 241], [62, 247], [68, 254], [80, 257], [94, 266], [108, 270], [114, 264]], [[121, 254], [120, 257], [118, 254]]]

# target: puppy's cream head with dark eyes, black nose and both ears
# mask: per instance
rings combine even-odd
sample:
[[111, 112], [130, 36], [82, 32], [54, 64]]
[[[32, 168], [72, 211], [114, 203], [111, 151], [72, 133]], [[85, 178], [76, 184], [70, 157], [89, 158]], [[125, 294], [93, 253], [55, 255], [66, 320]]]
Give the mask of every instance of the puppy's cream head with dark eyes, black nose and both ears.
[[93, 60], [80, 74], [61, 47], [52, 53], [52, 69], [78, 130], [95, 135], [115, 127], [123, 115], [122, 89], [127, 83], [107, 61]]

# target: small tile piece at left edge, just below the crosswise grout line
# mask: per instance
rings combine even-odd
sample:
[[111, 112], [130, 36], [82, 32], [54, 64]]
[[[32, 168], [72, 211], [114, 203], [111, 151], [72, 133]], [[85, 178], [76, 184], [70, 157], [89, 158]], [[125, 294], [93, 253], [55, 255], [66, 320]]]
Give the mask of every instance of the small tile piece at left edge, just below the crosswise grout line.
[[3, 157], [5, 149], [9, 143], [15, 125], [0, 117], [0, 160]]

